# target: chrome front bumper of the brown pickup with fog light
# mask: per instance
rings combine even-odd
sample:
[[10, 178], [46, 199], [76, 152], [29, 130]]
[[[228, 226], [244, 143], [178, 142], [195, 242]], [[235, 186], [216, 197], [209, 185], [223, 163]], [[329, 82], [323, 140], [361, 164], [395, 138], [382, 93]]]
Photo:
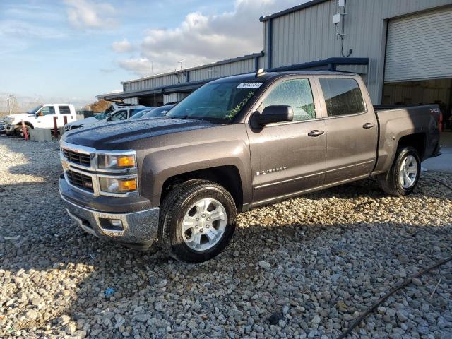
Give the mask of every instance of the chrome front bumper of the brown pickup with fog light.
[[[105, 213], [69, 201], [61, 191], [66, 211], [85, 232], [101, 239], [146, 249], [157, 239], [159, 208], [130, 213]], [[114, 220], [114, 224], [112, 221]], [[120, 222], [121, 226], [118, 226]]]

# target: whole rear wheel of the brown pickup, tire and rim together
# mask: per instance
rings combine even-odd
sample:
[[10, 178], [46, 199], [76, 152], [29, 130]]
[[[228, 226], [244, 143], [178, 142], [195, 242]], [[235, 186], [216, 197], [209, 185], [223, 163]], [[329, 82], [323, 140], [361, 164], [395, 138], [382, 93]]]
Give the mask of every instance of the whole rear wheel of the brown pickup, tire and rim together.
[[383, 191], [393, 196], [410, 194], [419, 180], [421, 172], [420, 156], [413, 147], [398, 150], [393, 165], [380, 178]]

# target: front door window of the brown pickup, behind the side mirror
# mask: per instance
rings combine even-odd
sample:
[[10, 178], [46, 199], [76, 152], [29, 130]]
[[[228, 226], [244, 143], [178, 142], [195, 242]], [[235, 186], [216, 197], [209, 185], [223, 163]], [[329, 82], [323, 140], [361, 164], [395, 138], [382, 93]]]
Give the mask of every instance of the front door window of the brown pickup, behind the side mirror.
[[316, 119], [314, 98], [308, 79], [286, 80], [276, 85], [263, 100], [262, 110], [273, 105], [292, 106], [293, 121]]

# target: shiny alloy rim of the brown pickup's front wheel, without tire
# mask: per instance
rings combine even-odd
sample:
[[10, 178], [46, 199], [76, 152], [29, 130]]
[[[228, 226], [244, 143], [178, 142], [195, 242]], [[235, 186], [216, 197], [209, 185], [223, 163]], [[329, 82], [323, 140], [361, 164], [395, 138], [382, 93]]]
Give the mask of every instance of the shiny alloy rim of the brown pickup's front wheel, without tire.
[[192, 205], [182, 222], [182, 237], [194, 251], [206, 251], [225, 233], [227, 214], [220, 201], [203, 198]]

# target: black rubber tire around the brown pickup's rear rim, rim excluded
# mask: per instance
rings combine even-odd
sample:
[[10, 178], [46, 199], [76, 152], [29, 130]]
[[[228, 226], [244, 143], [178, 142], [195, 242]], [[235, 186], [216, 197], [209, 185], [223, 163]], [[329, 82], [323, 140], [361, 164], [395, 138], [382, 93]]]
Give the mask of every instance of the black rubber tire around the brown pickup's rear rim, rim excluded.
[[[404, 187], [399, 180], [400, 167], [403, 161], [408, 157], [412, 156], [415, 158], [417, 172], [415, 174], [415, 181], [409, 187]], [[379, 177], [381, 188], [388, 194], [393, 196], [406, 196], [415, 189], [417, 182], [419, 181], [421, 173], [421, 162], [420, 156], [414, 147], [400, 148], [396, 154], [396, 159], [394, 159], [391, 168]]]

